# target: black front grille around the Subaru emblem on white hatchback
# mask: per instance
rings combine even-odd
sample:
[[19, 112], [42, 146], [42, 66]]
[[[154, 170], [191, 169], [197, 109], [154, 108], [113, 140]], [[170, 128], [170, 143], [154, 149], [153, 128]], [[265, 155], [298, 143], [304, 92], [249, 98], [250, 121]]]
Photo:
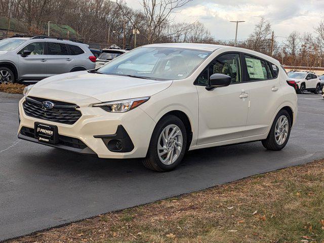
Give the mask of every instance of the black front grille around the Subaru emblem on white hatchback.
[[[52, 109], [45, 109], [43, 107], [44, 101], [53, 102], [54, 107]], [[74, 124], [82, 115], [79, 110], [76, 110], [78, 106], [75, 104], [37, 97], [26, 97], [23, 108], [28, 116], [68, 125]]]

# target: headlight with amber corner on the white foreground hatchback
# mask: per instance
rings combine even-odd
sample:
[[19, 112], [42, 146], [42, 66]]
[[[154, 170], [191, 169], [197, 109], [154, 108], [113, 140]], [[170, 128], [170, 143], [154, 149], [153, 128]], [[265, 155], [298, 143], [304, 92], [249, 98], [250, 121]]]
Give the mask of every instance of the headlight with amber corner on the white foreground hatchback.
[[100, 104], [94, 104], [93, 107], [100, 107], [109, 112], [126, 112], [136, 108], [137, 106], [145, 103], [150, 97], [129, 99], [129, 100], [117, 100], [111, 102], [104, 102]]

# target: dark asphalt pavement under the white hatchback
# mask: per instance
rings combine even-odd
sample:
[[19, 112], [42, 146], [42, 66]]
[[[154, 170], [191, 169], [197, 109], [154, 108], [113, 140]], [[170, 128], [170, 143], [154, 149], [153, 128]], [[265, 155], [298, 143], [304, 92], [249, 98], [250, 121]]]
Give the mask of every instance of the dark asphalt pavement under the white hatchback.
[[324, 100], [299, 95], [287, 147], [260, 142], [189, 152], [170, 173], [17, 140], [17, 101], [0, 99], [0, 240], [324, 158]]

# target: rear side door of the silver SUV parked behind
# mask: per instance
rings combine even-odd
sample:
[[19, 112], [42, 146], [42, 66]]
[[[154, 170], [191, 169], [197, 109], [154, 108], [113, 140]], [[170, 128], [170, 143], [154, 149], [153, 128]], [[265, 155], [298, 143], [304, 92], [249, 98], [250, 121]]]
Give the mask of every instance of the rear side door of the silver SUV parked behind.
[[70, 72], [75, 66], [75, 59], [70, 55], [65, 43], [47, 42], [47, 76]]

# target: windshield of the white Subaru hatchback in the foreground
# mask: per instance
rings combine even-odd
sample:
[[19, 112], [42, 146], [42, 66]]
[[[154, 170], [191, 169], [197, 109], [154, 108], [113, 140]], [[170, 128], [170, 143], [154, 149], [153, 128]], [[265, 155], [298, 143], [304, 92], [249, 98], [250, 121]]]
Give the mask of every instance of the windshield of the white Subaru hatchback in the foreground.
[[142, 47], [112, 60], [98, 72], [156, 80], [184, 79], [210, 54], [184, 48]]

